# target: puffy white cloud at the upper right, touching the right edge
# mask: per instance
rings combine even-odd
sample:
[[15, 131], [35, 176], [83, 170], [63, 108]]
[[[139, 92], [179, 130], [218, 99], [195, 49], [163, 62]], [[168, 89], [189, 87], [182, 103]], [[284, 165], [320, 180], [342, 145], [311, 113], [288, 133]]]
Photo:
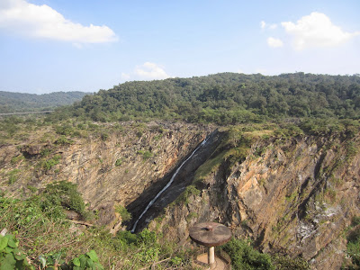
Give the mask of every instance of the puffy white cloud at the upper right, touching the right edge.
[[303, 16], [296, 23], [281, 24], [285, 31], [293, 36], [293, 48], [297, 50], [336, 47], [360, 34], [359, 31], [343, 31], [331, 23], [327, 15], [315, 12]]

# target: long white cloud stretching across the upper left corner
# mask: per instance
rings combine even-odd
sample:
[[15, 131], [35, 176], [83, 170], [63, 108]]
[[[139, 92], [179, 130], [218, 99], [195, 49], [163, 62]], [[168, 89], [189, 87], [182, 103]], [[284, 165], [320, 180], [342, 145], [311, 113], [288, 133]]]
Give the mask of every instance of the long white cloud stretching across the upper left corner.
[[0, 29], [50, 40], [84, 43], [103, 43], [118, 40], [107, 26], [84, 26], [64, 18], [49, 5], [30, 4], [25, 0], [1, 0]]

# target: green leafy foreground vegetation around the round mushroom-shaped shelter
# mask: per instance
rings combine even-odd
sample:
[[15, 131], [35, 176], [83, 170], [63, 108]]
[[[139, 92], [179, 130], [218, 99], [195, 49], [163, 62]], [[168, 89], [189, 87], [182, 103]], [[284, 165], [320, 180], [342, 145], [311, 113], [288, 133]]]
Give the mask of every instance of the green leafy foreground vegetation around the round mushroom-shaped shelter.
[[[194, 250], [176, 247], [161, 234], [144, 229], [139, 234], [121, 230], [113, 236], [89, 223], [96, 220], [96, 212], [85, 210], [75, 184], [58, 182], [33, 192], [23, 201], [0, 194], [0, 228], [13, 233], [0, 236], [0, 269], [139, 269], [151, 264], [157, 269], [193, 269]], [[83, 221], [68, 220], [68, 210]], [[234, 269], [275, 269], [279, 262], [291, 262], [261, 254], [243, 240], [232, 239], [223, 248]]]

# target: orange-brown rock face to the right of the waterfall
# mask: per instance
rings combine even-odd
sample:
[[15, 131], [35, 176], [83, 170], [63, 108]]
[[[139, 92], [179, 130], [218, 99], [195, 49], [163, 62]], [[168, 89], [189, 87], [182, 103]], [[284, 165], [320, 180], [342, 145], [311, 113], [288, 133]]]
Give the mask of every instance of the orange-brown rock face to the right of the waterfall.
[[360, 154], [348, 156], [349, 141], [358, 145], [359, 136], [259, 139], [245, 161], [224, 162], [199, 196], [166, 208], [149, 226], [184, 243], [194, 223], [216, 220], [266, 252], [339, 269], [346, 255], [341, 235], [360, 215]]

